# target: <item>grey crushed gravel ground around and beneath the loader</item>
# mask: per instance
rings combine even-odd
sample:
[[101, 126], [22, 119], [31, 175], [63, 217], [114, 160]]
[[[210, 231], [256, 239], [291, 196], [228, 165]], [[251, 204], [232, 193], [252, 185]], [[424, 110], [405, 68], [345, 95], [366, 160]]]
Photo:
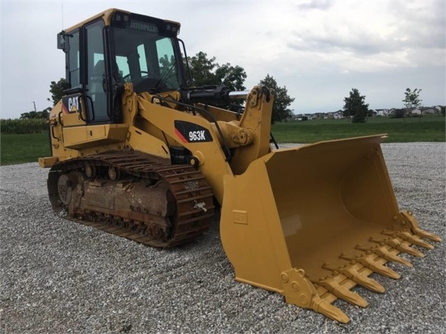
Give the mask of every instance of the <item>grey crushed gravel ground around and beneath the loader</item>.
[[[445, 143], [382, 144], [401, 208], [445, 238]], [[445, 242], [385, 294], [335, 305], [349, 324], [235, 282], [218, 217], [198, 241], [157, 250], [58, 218], [37, 163], [0, 169], [1, 333], [446, 333]]]

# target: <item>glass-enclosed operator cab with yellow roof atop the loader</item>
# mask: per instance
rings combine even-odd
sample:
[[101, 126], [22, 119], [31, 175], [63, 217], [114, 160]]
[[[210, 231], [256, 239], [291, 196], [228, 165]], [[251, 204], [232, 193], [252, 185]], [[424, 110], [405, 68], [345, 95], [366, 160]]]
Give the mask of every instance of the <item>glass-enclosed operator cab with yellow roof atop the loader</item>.
[[185, 86], [179, 23], [110, 9], [58, 34], [66, 53], [64, 98], [81, 99], [86, 123], [119, 123], [120, 94], [176, 91]]

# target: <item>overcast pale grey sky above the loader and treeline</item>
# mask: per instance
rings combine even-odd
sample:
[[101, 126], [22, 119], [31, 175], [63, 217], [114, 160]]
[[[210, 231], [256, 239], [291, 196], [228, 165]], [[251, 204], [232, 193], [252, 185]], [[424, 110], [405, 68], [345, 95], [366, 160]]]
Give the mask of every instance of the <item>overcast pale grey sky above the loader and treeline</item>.
[[1, 118], [50, 107], [65, 77], [63, 28], [107, 8], [181, 23], [188, 56], [267, 74], [295, 98], [295, 114], [334, 112], [352, 88], [371, 109], [403, 107], [406, 88], [445, 105], [446, 1], [5, 1], [1, 11]]

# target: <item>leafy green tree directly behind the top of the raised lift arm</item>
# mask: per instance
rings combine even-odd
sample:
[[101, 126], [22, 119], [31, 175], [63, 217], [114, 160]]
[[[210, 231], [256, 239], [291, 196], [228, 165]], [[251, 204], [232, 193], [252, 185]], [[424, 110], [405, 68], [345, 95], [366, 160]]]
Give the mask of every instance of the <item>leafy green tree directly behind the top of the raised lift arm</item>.
[[265, 79], [260, 80], [259, 84], [260, 86], [266, 86], [274, 95], [271, 123], [274, 124], [274, 122], [287, 121], [288, 119], [291, 119], [292, 110], [288, 107], [295, 100], [295, 98], [291, 98], [288, 95], [286, 87], [279, 87], [276, 80], [269, 76], [269, 74], [267, 74]]

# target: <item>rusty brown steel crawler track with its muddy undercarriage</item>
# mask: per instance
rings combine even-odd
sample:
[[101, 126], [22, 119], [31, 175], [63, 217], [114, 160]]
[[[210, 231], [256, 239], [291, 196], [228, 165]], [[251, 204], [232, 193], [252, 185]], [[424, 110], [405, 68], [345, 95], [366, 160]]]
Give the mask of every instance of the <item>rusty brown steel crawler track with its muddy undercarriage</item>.
[[54, 211], [64, 218], [154, 247], [198, 238], [214, 216], [201, 172], [128, 152], [59, 162], [47, 185]]

